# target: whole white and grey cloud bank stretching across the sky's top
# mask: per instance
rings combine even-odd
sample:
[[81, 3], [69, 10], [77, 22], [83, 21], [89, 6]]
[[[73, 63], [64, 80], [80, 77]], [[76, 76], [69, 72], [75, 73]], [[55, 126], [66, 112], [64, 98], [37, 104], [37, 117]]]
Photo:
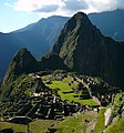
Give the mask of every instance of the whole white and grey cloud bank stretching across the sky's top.
[[78, 11], [102, 12], [124, 9], [124, 0], [17, 0], [7, 6], [14, 11], [33, 12], [41, 17], [73, 16]]

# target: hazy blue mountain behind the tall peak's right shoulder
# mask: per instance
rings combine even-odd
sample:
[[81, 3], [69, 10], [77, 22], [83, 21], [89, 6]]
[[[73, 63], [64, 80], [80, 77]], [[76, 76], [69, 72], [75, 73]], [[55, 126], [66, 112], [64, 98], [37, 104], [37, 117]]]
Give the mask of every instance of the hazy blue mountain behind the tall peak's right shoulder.
[[104, 35], [124, 41], [124, 10], [107, 11], [89, 14], [90, 20]]

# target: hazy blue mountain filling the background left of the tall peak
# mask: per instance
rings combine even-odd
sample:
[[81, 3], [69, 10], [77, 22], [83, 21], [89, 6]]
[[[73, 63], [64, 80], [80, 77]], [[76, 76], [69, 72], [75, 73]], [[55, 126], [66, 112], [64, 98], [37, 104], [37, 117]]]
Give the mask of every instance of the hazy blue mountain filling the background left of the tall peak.
[[0, 33], [0, 78], [19, 49], [28, 48], [37, 58], [48, 53], [66, 21], [65, 17], [53, 16], [18, 31]]

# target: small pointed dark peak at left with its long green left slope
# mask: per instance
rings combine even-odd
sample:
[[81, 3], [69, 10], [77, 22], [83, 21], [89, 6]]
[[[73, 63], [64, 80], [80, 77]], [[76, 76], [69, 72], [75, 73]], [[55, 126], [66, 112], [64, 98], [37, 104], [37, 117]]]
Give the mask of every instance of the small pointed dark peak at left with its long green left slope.
[[[9, 65], [9, 69], [6, 73], [3, 83], [2, 83], [2, 96], [7, 98], [10, 91], [13, 89], [13, 81], [21, 74], [34, 72], [38, 69], [37, 60], [31, 55], [27, 49], [21, 49], [12, 62]], [[7, 93], [8, 91], [9, 93]]]

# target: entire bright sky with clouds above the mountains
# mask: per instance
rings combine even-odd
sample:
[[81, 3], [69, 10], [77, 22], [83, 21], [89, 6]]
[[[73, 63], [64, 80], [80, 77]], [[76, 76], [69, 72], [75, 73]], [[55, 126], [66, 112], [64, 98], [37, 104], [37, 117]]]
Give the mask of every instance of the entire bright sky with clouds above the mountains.
[[116, 9], [124, 9], [124, 0], [0, 0], [0, 32], [8, 33], [50, 16]]

